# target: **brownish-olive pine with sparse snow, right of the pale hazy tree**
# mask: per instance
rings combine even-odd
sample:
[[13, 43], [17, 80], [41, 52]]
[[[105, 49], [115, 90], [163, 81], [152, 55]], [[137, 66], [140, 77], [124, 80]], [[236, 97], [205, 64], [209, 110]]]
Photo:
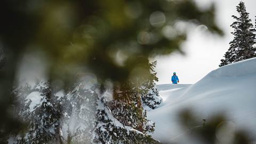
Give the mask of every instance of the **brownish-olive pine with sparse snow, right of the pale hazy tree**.
[[142, 108], [138, 87], [132, 82], [126, 82], [114, 88], [114, 100], [107, 103], [113, 116], [125, 126], [142, 133], [146, 132], [143, 125], [147, 122], [145, 111]]

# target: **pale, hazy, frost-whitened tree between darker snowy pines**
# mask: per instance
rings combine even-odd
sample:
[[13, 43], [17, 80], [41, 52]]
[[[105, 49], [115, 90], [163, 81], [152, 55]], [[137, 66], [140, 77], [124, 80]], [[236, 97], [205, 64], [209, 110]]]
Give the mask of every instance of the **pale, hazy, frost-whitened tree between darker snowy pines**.
[[68, 121], [62, 126], [63, 138], [67, 143], [93, 143], [93, 131], [95, 129], [95, 115], [97, 100], [97, 84], [89, 84], [89, 81], [78, 81], [74, 89], [68, 92], [71, 113]]

